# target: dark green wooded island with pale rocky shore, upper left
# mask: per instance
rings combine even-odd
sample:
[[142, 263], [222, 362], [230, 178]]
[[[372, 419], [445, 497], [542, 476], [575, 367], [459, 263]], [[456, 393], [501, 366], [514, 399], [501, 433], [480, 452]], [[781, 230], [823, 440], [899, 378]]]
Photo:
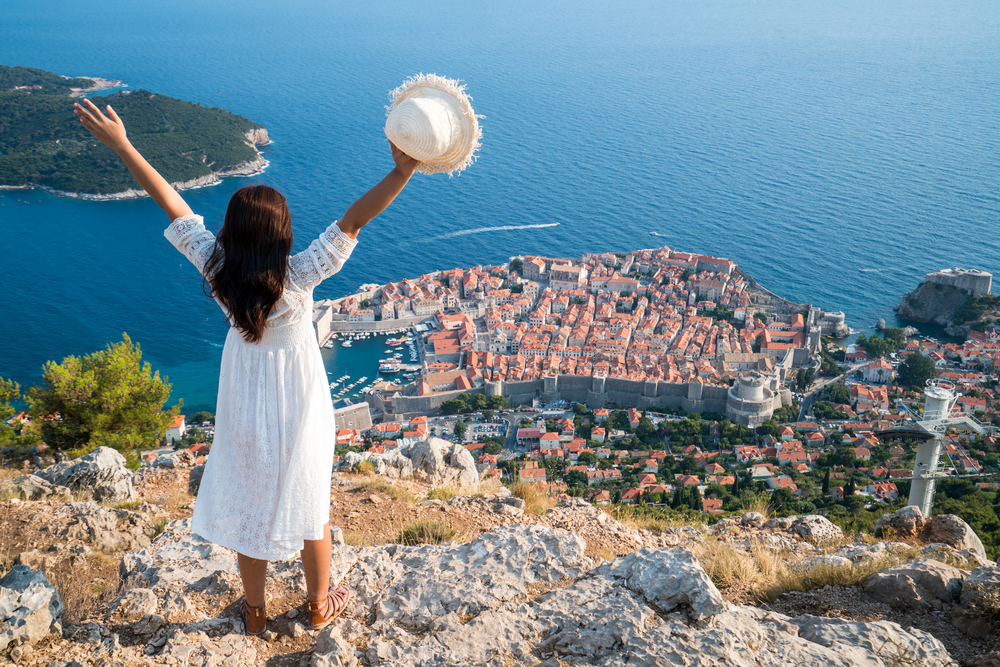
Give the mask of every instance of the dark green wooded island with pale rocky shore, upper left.
[[[0, 189], [38, 188], [94, 200], [146, 196], [114, 152], [72, 113], [73, 98], [109, 88], [124, 84], [0, 65]], [[115, 108], [132, 143], [178, 190], [267, 166], [257, 150], [269, 142], [267, 130], [225, 109], [147, 90], [119, 89], [91, 99]]]

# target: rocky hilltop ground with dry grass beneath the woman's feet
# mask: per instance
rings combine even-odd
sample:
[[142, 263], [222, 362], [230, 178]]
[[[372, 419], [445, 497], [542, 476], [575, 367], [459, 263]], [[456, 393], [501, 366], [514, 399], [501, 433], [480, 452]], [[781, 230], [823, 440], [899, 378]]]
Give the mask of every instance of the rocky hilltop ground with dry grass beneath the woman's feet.
[[[414, 469], [458, 474], [440, 469], [452, 465], [447, 452], [431, 454], [425, 465], [427, 452], [414, 452]], [[121, 463], [104, 451], [41, 475], [7, 475], [6, 494], [19, 497], [0, 502], [0, 546], [19, 555], [0, 580], [0, 655], [15, 664], [1000, 664], [991, 615], [1000, 611], [1000, 570], [957, 517], [928, 521], [915, 508], [887, 516], [882, 527], [905, 542], [848, 538], [815, 515], [747, 513], [650, 532], [580, 499], [535, 516], [502, 487], [422, 500], [430, 488], [417, 482], [339, 474], [331, 520], [351, 543], [337, 532], [331, 577], [352, 601], [332, 626], [310, 632], [298, 559], [272, 562], [267, 630], [247, 637], [233, 552], [192, 533], [189, 507], [172, 500], [181, 492], [189, 506], [198, 468], [174, 456], [140, 469], [131, 489]], [[137, 499], [67, 502], [87, 479], [106, 503]], [[428, 517], [460, 532], [441, 544], [396, 543], [404, 522]], [[381, 537], [355, 532], [379, 522], [388, 527]], [[924, 545], [925, 533], [951, 544]], [[80, 611], [66, 572], [93, 586], [107, 562], [116, 564], [114, 585], [99, 595], [88, 587], [90, 606]], [[807, 592], [755, 603], [737, 590], [749, 579], [735, 562], [771, 563], [810, 582], [797, 589]]]

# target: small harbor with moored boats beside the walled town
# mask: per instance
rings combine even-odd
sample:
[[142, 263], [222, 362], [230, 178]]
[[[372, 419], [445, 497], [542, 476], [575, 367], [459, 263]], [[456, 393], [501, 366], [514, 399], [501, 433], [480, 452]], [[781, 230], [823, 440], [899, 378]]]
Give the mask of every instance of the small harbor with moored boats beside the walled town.
[[335, 403], [364, 401], [381, 382], [406, 384], [420, 375], [421, 360], [409, 329], [342, 332], [320, 347]]

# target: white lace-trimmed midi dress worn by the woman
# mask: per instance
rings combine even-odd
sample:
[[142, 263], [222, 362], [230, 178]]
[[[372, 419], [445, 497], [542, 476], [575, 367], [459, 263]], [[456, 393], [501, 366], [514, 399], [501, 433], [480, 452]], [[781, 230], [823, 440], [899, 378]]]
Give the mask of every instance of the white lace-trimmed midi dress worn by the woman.
[[[174, 220], [164, 236], [204, 273], [215, 236], [201, 216]], [[330, 225], [290, 258], [284, 294], [261, 342], [248, 343], [229, 329], [215, 440], [191, 520], [192, 530], [211, 542], [284, 560], [303, 540], [319, 539], [330, 520], [337, 431], [312, 326], [312, 292], [340, 270], [356, 244]]]

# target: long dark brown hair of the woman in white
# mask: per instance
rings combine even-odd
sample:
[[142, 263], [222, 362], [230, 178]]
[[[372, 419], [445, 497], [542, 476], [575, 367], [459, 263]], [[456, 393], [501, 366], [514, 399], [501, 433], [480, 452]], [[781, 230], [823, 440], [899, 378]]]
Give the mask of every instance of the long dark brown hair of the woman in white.
[[292, 214], [284, 196], [266, 185], [237, 190], [205, 275], [211, 295], [251, 343], [260, 342], [267, 316], [281, 298], [291, 251]]

